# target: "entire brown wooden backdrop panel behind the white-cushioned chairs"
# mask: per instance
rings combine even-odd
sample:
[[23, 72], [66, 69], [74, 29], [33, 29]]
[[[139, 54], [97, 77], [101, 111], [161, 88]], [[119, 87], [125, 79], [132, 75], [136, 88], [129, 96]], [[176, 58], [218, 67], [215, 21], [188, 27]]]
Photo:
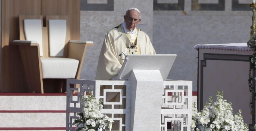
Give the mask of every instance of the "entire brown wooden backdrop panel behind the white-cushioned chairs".
[[80, 40], [80, 0], [2, 0], [1, 92], [28, 92], [19, 48], [12, 45], [19, 39], [19, 15], [68, 15], [71, 39]]

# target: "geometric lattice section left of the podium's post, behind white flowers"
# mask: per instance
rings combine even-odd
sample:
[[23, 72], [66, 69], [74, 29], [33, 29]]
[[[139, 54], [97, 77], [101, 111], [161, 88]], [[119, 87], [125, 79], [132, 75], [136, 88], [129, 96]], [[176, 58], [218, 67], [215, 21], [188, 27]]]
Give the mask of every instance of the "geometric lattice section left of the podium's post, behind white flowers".
[[130, 81], [91, 81], [67, 79], [67, 131], [75, 131], [72, 123], [79, 119], [81, 96], [93, 92], [102, 99], [102, 113], [113, 119], [112, 131], [130, 131]]

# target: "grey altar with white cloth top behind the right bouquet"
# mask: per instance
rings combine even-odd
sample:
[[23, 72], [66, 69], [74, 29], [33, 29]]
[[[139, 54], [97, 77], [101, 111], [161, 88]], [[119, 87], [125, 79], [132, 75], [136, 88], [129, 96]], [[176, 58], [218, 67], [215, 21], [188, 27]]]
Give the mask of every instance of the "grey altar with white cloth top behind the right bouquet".
[[[223, 98], [232, 102], [233, 114], [241, 109], [244, 123], [248, 127], [249, 124], [254, 124], [254, 118], [250, 114], [251, 92], [248, 86], [249, 57], [254, 51], [247, 47], [247, 43], [195, 45], [194, 49], [198, 50], [199, 111], [209, 96], [215, 101], [216, 92], [223, 91]], [[252, 76], [255, 77], [255, 71]]]

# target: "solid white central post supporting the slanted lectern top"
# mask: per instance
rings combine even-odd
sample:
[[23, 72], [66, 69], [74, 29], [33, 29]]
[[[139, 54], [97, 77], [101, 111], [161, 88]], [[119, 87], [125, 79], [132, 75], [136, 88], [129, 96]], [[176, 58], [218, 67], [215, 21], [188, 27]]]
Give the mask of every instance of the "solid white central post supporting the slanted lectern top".
[[133, 70], [131, 81], [131, 131], [159, 131], [163, 78], [159, 70]]

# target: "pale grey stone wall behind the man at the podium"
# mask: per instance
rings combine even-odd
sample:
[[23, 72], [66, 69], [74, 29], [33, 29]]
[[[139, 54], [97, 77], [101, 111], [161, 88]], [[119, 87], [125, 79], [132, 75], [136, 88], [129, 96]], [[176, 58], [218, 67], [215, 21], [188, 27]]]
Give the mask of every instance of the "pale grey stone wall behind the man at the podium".
[[[164, 7], [174, 5], [171, 8], [175, 10], [153, 9], [153, 2], [157, 2], [155, 5], [164, 4]], [[95, 44], [87, 49], [81, 79], [95, 79], [104, 35], [123, 22], [128, 8], [137, 7], [142, 13], [140, 26], [150, 36], [156, 53], [177, 54], [168, 79], [193, 81], [193, 91], [197, 91], [197, 50], [194, 45], [247, 42], [252, 24], [252, 12], [248, 11], [250, 2], [114, 0], [113, 11], [81, 11], [81, 40], [91, 40]]]

